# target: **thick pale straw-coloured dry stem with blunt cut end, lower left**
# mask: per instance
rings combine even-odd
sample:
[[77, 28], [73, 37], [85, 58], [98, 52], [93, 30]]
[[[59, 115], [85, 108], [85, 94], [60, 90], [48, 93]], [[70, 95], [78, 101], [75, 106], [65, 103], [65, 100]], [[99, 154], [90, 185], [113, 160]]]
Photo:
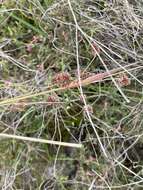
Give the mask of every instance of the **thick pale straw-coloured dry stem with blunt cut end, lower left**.
[[24, 137], [24, 136], [18, 136], [18, 135], [6, 134], [6, 133], [0, 133], [0, 137], [9, 138], [9, 139], [18, 139], [18, 140], [24, 140], [24, 141], [30, 141], [30, 142], [53, 144], [53, 145], [58, 145], [58, 146], [82, 148], [82, 144], [77, 144], [77, 143], [67, 143], [67, 142], [39, 139], [39, 138], [34, 138], [34, 137]]

